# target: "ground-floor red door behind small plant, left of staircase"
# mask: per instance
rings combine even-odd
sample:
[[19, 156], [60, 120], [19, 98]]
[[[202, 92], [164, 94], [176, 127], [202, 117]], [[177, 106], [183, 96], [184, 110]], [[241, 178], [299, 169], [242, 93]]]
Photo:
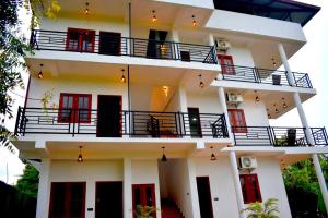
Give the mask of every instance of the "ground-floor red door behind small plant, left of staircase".
[[151, 217], [156, 217], [155, 184], [133, 184], [132, 195], [134, 218], [137, 217], [136, 211], [138, 205], [153, 207], [154, 211], [151, 214]]

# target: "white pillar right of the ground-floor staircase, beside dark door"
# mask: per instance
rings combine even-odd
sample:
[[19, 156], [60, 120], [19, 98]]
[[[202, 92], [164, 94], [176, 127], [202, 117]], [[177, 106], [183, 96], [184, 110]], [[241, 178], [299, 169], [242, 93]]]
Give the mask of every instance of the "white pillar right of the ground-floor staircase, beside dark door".
[[187, 166], [188, 166], [188, 174], [189, 174], [189, 185], [190, 185], [189, 196], [190, 196], [191, 207], [192, 207], [192, 217], [200, 218], [198, 190], [197, 190], [197, 182], [196, 182], [196, 169], [195, 169], [195, 162], [190, 157], [187, 158]]

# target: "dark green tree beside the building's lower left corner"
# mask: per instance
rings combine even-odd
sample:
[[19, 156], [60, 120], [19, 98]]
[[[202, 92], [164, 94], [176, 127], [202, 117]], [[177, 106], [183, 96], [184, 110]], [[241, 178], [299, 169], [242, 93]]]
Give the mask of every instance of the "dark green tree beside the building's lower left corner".
[[16, 189], [28, 196], [36, 197], [38, 189], [38, 171], [32, 165], [25, 165], [24, 172], [17, 180]]

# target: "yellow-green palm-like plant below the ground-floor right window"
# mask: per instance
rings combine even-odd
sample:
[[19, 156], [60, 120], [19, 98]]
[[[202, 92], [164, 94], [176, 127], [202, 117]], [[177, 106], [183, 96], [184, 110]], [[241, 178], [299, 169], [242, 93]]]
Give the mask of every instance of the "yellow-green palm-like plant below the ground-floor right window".
[[247, 218], [279, 218], [278, 199], [269, 198], [265, 203], [250, 203], [241, 213], [247, 213]]

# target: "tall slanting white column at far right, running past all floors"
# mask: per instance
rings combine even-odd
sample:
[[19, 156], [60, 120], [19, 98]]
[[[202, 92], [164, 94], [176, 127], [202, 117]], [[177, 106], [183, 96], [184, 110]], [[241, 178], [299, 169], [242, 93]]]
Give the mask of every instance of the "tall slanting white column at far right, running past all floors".
[[[292, 86], [295, 86], [295, 81], [293, 78], [292, 71], [291, 71], [289, 61], [286, 59], [286, 55], [284, 52], [282, 44], [278, 44], [278, 49], [279, 49], [280, 58], [281, 58], [281, 61], [284, 65], [284, 69], [288, 71], [288, 78], [289, 78], [290, 82], [292, 82]], [[314, 146], [315, 142], [314, 142], [314, 138], [313, 138], [313, 135], [312, 135], [312, 132], [311, 132], [311, 129], [309, 129], [309, 125], [308, 125], [308, 122], [307, 122], [307, 119], [306, 119], [306, 116], [305, 116], [305, 112], [304, 112], [304, 109], [303, 109], [303, 106], [302, 106], [300, 94], [294, 93], [293, 98], [294, 98], [294, 102], [295, 102], [297, 111], [298, 111], [298, 117], [301, 119], [302, 125], [305, 129], [305, 135], [306, 135], [307, 143], [309, 145]], [[324, 202], [325, 202], [325, 207], [326, 207], [326, 210], [328, 211], [328, 190], [327, 190], [327, 185], [326, 185], [326, 181], [325, 181], [325, 177], [324, 177], [324, 173], [323, 173], [323, 170], [321, 170], [321, 166], [320, 166], [320, 162], [319, 162], [318, 155], [313, 154], [312, 159], [313, 159], [315, 171], [316, 171], [316, 174], [317, 174], [317, 178], [318, 178], [320, 191], [321, 191], [323, 198], [324, 198]]]

